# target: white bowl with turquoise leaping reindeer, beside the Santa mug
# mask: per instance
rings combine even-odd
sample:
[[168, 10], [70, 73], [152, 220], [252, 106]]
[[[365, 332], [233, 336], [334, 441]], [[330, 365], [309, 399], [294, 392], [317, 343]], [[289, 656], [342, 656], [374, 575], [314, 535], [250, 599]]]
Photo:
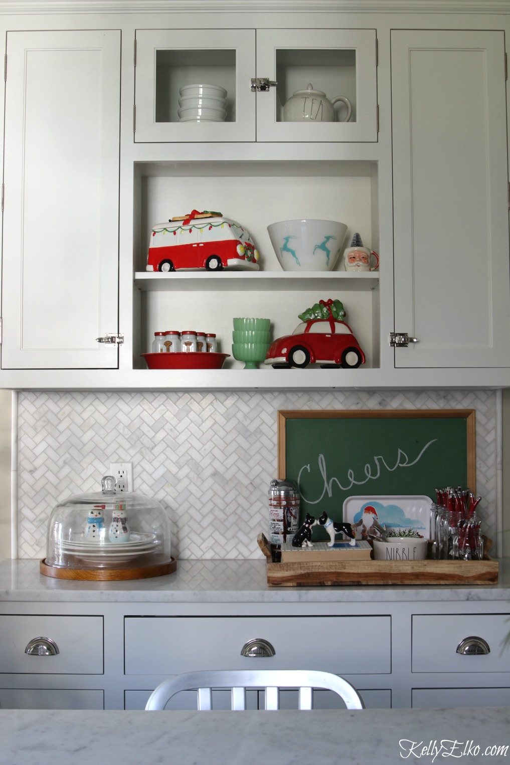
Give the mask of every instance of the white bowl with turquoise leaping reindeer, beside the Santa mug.
[[332, 271], [347, 226], [338, 220], [280, 220], [267, 230], [284, 271]]

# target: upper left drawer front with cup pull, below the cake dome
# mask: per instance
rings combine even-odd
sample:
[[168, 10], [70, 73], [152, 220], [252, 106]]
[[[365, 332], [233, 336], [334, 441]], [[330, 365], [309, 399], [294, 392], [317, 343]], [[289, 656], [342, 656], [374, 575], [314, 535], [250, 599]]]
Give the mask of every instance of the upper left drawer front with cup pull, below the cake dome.
[[[0, 616], [0, 634], [2, 673], [103, 673], [103, 617]], [[28, 655], [25, 648], [34, 638], [53, 641], [58, 653]]]

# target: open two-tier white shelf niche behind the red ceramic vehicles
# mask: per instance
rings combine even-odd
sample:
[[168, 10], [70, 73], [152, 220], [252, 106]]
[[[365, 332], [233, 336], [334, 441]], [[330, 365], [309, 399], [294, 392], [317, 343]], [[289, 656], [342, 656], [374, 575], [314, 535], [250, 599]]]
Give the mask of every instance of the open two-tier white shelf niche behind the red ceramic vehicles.
[[[140, 307], [135, 367], [142, 366], [139, 353], [149, 350], [157, 330], [214, 332], [221, 350], [231, 353], [234, 316], [270, 317], [273, 337], [279, 337], [295, 329], [299, 312], [328, 298], [345, 303], [347, 321], [367, 356], [366, 367], [379, 366], [379, 274], [351, 274], [343, 264], [343, 250], [355, 232], [378, 250], [376, 162], [138, 162], [134, 173], [134, 286]], [[248, 229], [260, 251], [260, 272], [146, 272], [152, 226], [193, 209], [220, 211]], [[267, 226], [303, 217], [347, 224], [334, 271], [296, 274], [281, 269]], [[230, 359], [228, 366], [242, 364]]]

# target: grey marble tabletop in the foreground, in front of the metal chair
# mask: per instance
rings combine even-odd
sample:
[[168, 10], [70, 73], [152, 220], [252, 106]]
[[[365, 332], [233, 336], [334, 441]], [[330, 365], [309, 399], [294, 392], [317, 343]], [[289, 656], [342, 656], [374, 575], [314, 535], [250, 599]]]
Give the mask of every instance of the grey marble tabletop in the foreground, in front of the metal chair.
[[444, 757], [492, 765], [510, 760], [510, 708], [5, 709], [0, 741], [0, 765], [387, 765]]

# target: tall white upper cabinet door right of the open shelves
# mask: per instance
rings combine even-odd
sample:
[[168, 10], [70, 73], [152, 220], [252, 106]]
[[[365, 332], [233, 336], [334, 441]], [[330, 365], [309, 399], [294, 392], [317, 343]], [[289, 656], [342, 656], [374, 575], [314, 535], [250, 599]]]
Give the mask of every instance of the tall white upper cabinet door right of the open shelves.
[[392, 31], [391, 95], [395, 365], [509, 366], [503, 31]]

